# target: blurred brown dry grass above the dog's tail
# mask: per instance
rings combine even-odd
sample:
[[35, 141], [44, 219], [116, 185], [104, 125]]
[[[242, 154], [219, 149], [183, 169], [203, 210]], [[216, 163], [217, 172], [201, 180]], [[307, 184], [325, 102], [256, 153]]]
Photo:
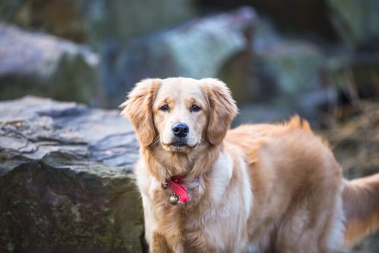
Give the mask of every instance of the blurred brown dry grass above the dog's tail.
[[347, 178], [379, 172], [379, 102], [359, 101], [324, 117], [329, 141]]

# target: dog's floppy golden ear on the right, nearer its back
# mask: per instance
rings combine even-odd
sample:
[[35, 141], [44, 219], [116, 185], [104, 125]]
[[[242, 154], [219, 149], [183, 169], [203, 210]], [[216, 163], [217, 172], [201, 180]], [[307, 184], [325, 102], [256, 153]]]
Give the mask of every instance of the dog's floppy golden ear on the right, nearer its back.
[[201, 81], [210, 105], [208, 141], [217, 145], [224, 139], [233, 118], [238, 113], [238, 109], [226, 84], [213, 78], [206, 78]]

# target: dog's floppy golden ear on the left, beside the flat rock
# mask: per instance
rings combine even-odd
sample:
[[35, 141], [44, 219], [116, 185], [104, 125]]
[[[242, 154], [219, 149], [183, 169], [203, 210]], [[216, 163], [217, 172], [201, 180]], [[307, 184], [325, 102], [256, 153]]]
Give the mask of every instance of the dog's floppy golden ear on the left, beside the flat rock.
[[121, 115], [132, 121], [137, 138], [142, 146], [148, 146], [155, 138], [152, 104], [161, 79], [142, 80], [131, 92], [127, 100], [120, 105]]

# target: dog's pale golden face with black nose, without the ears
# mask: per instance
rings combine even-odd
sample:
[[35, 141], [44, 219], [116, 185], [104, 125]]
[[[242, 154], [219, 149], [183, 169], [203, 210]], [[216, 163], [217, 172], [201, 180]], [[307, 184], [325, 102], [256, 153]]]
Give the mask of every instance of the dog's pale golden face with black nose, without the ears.
[[152, 105], [153, 123], [166, 151], [188, 152], [206, 136], [208, 100], [196, 81], [188, 81], [166, 80]]

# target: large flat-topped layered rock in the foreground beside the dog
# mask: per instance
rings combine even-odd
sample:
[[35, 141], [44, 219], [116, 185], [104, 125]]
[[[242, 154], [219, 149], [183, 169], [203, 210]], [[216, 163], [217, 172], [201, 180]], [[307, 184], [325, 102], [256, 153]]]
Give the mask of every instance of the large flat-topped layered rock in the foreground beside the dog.
[[142, 252], [133, 127], [117, 111], [0, 103], [0, 252]]

